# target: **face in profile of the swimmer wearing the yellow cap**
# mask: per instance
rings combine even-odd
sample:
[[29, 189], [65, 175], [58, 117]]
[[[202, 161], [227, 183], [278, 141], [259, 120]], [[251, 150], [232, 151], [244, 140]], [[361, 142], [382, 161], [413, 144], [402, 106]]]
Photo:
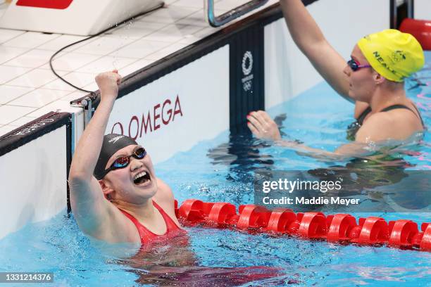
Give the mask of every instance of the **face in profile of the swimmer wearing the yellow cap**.
[[[354, 98], [356, 101], [369, 102], [373, 92], [375, 90], [375, 81], [373, 75], [377, 74], [373, 68], [370, 68], [368, 60], [363, 56], [363, 53], [358, 48], [358, 45], [354, 46], [351, 52], [351, 60], [356, 63], [361, 63], [361, 69], [357, 68], [354, 70], [351, 65], [346, 65], [344, 68], [344, 74], [347, 76], [349, 81], [349, 96]], [[350, 61], [349, 61], [350, 62]]]

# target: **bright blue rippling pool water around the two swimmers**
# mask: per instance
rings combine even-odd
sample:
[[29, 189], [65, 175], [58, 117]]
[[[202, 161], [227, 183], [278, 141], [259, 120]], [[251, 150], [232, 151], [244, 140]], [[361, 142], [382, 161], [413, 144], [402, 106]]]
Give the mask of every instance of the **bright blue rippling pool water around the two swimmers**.
[[[426, 57], [427, 65], [406, 87], [429, 127], [431, 53]], [[282, 132], [286, 139], [334, 151], [348, 142], [346, 126], [353, 121], [353, 108], [322, 83], [269, 113], [285, 118]], [[431, 170], [430, 144], [430, 134], [425, 133], [420, 144], [404, 147], [405, 170]], [[313, 170], [346, 164], [323, 162], [248, 135], [225, 132], [161, 162], [156, 173], [171, 186], [180, 203], [198, 198], [239, 205], [254, 202], [256, 170]], [[427, 212], [353, 215], [380, 216], [387, 222], [431, 222]], [[63, 212], [2, 238], [0, 272], [54, 272], [55, 283], [49, 286], [431, 286], [431, 253], [230, 229], [187, 230], [189, 245], [173, 243], [154, 248], [144, 259], [120, 259], [101, 253], [78, 229], [73, 215]]]

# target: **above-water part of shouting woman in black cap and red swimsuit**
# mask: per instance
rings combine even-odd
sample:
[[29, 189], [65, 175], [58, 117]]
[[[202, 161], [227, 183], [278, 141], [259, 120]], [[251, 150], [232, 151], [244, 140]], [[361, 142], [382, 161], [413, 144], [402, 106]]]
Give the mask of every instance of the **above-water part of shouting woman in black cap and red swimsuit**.
[[145, 149], [128, 136], [104, 136], [120, 82], [116, 70], [96, 77], [101, 101], [70, 166], [70, 205], [85, 234], [149, 245], [185, 231], [175, 217], [173, 193], [156, 177]]

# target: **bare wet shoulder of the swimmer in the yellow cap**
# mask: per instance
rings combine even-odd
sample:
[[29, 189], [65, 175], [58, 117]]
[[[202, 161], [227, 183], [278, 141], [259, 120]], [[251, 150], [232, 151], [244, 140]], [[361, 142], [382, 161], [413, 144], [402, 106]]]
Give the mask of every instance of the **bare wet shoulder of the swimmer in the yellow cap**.
[[396, 109], [370, 115], [356, 133], [356, 141], [404, 140], [421, 130], [416, 115], [410, 110]]

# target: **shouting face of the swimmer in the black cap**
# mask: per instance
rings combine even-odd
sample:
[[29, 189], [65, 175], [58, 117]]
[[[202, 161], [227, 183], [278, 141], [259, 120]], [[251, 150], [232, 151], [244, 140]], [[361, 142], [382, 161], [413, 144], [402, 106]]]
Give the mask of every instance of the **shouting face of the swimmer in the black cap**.
[[[144, 155], [142, 149], [137, 145], [126, 146], [108, 160], [106, 169], [115, 165], [119, 158], [121, 161], [129, 159], [127, 165], [111, 170], [100, 181], [105, 196], [114, 203], [140, 204], [156, 194], [154, 166], [150, 156], [146, 152]], [[139, 158], [141, 156], [142, 158]]]

